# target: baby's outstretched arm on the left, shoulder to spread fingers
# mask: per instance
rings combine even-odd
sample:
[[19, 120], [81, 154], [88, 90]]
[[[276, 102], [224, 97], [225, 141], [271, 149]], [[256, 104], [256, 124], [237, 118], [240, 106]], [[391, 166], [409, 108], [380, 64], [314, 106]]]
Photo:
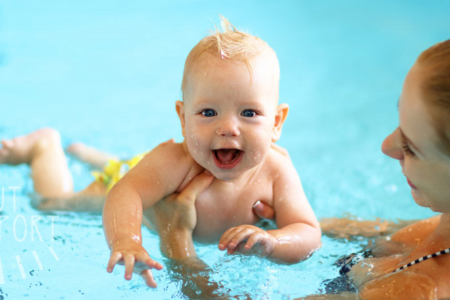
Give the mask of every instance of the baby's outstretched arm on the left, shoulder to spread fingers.
[[142, 212], [172, 194], [190, 167], [191, 158], [181, 144], [159, 145], [110, 190], [103, 207], [103, 230], [111, 250], [108, 272], [116, 263], [124, 264], [129, 280], [137, 267], [147, 284], [156, 287], [150, 268], [160, 270], [162, 265], [142, 247]]

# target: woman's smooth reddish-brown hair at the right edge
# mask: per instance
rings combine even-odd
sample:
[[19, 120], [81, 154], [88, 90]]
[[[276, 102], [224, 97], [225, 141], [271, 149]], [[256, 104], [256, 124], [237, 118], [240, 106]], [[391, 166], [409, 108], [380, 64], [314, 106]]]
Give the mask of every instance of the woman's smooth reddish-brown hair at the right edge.
[[450, 157], [450, 39], [423, 51], [417, 59], [423, 70], [421, 90], [433, 126], [437, 131], [438, 147]]

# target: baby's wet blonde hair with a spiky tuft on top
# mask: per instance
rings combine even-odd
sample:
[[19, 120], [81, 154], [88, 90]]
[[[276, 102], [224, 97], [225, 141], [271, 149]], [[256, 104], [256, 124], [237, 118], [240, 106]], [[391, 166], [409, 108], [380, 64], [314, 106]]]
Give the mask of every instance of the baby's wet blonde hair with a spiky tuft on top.
[[[212, 32], [212, 34], [199, 41], [186, 58], [183, 81], [181, 82], [183, 98], [188, 86], [189, 74], [193, 69], [193, 65], [195, 65], [195, 62], [199, 60], [203, 53], [210, 53], [224, 60], [233, 60], [245, 64], [250, 72], [250, 79], [252, 77], [252, 58], [258, 56], [265, 49], [273, 52], [276, 58], [275, 51], [265, 41], [251, 34], [236, 30], [236, 27], [229, 20], [226, 20], [224, 16], [219, 15], [219, 18], [220, 26], [215, 28], [215, 32]], [[278, 59], [275, 60], [279, 80]]]

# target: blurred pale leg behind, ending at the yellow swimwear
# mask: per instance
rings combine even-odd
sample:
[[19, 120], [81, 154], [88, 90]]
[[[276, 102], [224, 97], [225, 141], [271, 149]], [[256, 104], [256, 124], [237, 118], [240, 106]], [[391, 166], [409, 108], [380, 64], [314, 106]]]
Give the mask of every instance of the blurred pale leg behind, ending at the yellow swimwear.
[[66, 151], [71, 155], [75, 156], [82, 162], [90, 164], [92, 167], [97, 169], [103, 169], [105, 165], [111, 160], [117, 160], [115, 155], [111, 155], [106, 152], [101, 152], [96, 148], [89, 147], [84, 143], [72, 143]]

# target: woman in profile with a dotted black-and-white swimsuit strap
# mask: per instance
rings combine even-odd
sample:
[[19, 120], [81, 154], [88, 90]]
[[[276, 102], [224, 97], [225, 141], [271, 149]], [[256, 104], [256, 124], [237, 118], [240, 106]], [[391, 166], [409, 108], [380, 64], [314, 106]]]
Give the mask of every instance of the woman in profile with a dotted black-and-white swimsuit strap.
[[[385, 138], [382, 150], [399, 160], [413, 200], [442, 214], [378, 240], [368, 258], [354, 264], [352, 259], [342, 263], [342, 273], [356, 285], [355, 298], [448, 298], [450, 40], [428, 48], [419, 56], [406, 76], [398, 106], [399, 126]], [[259, 204], [259, 209], [270, 216], [269, 207]], [[324, 231], [328, 227], [333, 228], [329, 220], [323, 223]], [[195, 257], [195, 253], [188, 256]], [[347, 292], [346, 296], [351, 295]]]

